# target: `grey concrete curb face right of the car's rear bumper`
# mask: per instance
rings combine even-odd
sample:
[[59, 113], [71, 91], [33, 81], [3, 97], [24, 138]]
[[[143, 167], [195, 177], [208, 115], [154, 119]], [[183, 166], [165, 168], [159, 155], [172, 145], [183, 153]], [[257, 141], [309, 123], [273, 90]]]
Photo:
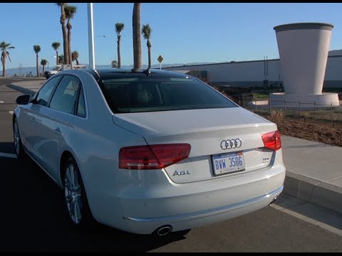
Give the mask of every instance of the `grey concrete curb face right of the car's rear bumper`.
[[342, 213], [342, 188], [286, 171], [284, 193]]

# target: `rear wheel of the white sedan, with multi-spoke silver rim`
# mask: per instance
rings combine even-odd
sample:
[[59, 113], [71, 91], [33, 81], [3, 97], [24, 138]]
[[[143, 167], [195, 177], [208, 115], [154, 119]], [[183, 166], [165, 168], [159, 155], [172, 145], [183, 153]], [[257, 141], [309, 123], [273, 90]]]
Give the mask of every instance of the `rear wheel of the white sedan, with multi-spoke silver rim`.
[[86, 190], [75, 159], [69, 157], [63, 164], [63, 194], [69, 220], [77, 228], [89, 228], [95, 223], [90, 212]]

